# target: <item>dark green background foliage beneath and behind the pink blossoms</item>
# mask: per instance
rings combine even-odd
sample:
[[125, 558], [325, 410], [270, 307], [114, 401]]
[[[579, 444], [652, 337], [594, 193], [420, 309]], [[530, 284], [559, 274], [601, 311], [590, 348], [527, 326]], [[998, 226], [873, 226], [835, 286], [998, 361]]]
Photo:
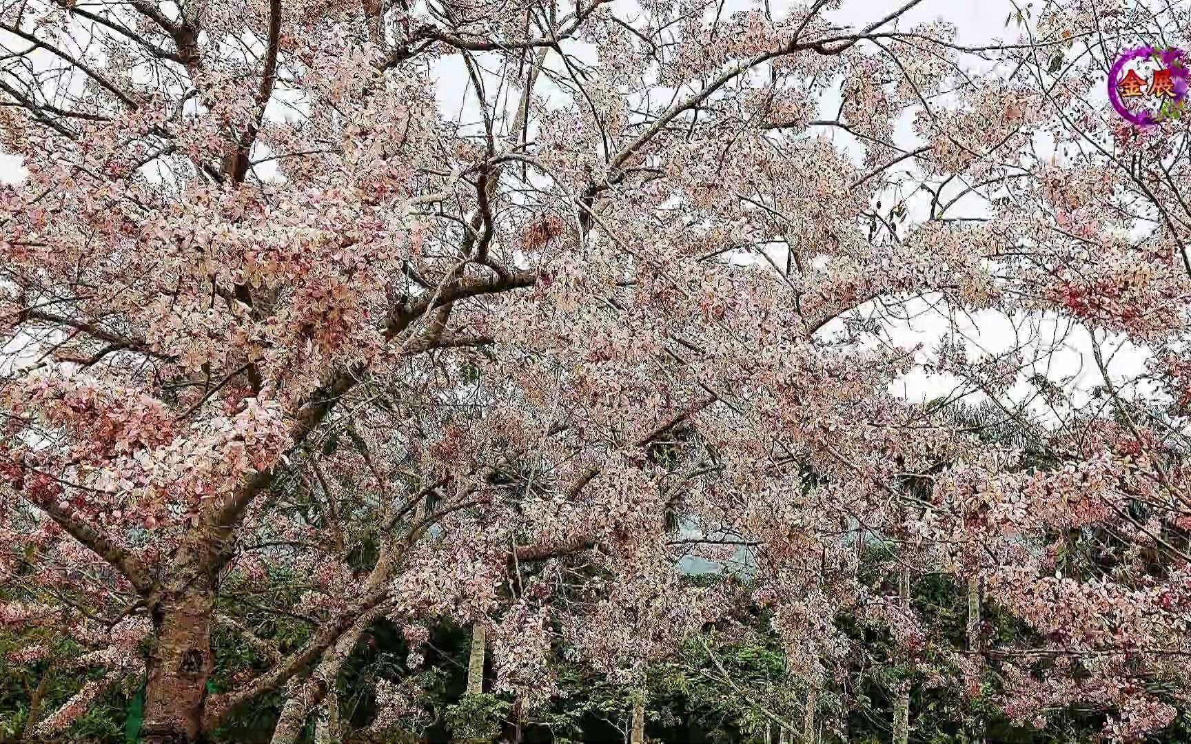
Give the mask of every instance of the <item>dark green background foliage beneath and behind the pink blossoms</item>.
[[[1018, 437], [1025, 468], [1050, 467], [1045, 445], [1021, 436], [1004, 412], [987, 407], [960, 414], [977, 436], [1004, 443]], [[660, 461], [680, 452], [665, 449], [655, 452]], [[667, 461], [668, 462], [668, 461]], [[510, 465], [505, 476], [519, 482], [520, 470]], [[819, 476], [804, 470], [807, 487]], [[918, 483], [908, 483], [917, 487]], [[1135, 514], [1139, 519], [1143, 513]], [[367, 569], [375, 561], [374, 536], [361, 529], [354, 544], [354, 565]], [[1111, 536], [1090, 530], [1073, 530], [1048, 536], [1058, 551], [1058, 568], [1074, 577], [1093, 576], [1110, 570], [1118, 548]], [[372, 540], [372, 542], [369, 542]], [[899, 544], [869, 537], [863, 545], [858, 580], [871, 590], [893, 590], [891, 575]], [[585, 569], [594, 575], [596, 569]], [[691, 576], [692, 586], [710, 586], [722, 581], [747, 582], [742, 577], [704, 574]], [[278, 569], [263, 581], [241, 575], [225, 577], [218, 613], [233, 624], [217, 624], [212, 650], [214, 668], [211, 690], [236, 689], [251, 677], [272, 668], [273, 654], [263, 644], [285, 655], [300, 648], [311, 633], [312, 624], [300, 617], [279, 612], [293, 607], [306, 590], [308, 579], [300, 573]], [[747, 595], [748, 587], [741, 587]], [[36, 600], [36, 598], [29, 598]], [[928, 638], [918, 654], [908, 658], [896, 646], [888, 632], [842, 614], [835, 618], [837, 631], [848, 638], [850, 656], [844, 674], [817, 690], [817, 715], [824, 727], [824, 742], [840, 740], [847, 729], [849, 742], [888, 742], [893, 700], [890, 692], [899, 682], [910, 683], [911, 740], [942, 744], [986, 742], [1067, 744], [1091, 740], [1099, 731], [1105, 712], [1070, 709], [1055, 712], [1047, 729], [1037, 731], [1010, 724], [997, 705], [1003, 681], [993, 663], [981, 680], [980, 695], [969, 698], [954, 683], [959, 670], [952, 649], [965, 646], [967, 620], [966, 586], [950, 576], [917, 576], [912, 582], [912, 600]], [[316, 618], [322, 619], [322, 618]], [[1031, 629], [986, 604], [981, 614], [981, 633], [993, 648], [1016, 643], [1039, 644]], [[256, 640], [250, 640], [249, 636]], [[520, 717], [523, 742], [619, 742], [626, 737], [635, 701], [646, 706], [647, 733], [650, 739], [703, 744], [709, 742], [748, 742], [760, 744], [767, 726], [775, 732], [775, 719], [800, 729], [809, 699], [807, 683], [792, 675], [785, 654], [771, 630], [768, 611], [754, 607], [738, 612], [731, 621], [719, 624], [696, 638], [690, 638], [681, 652], [665, 663], [648, 667], [632, 684], [611, 681], [588, 664], [567, 661], [559, 651], [550, 661], [561, 694], [543, 709], [515, 715], [507, 695], [466, 695], [466, 665], [469, 632], [449, 623], [431, 630], [431, 640], [422, 650], [424, 664], [411, 669], [410, 651], [403, 629], [381, 620], [370, 627], [344, 664], [336, 681], [344, 742], [397, 744], [399, 742], [494, 742], [507, 736], [511, 718]], [[8, 654], [40, 643], [50, 649], [49, 658], [26, 664], [7, 663]], [[33, 690], [42, 688], [40, 714], [45, 715], [74, 695], [100, 669], [71, 668], [67, 662], [87, 649], [44, 629], [0, 632], [0, 740], [23, 732]], [[378, 680], [411, 682], [420, 717], [406, 717], [391, 731], [372, 732], [378, 715], [375, 684]], [[943, 683], [936, 684], [935, 681]], [[120, 744], [139, 726], [143, 679], [129, 677], [105, 690], [85, 715], [55, 740]], [[251, 706], [235, 711], [216, 734], [218, 743], [264, 744], [268, 742], [283, 699], [278, 690], [262, 695]], [[306, 732], [306, 739], [310, 731]], [[30, 737], [26, 732], [26, 740]], [[1191, 718], [1180, 713], [1162, 736], [1149, 742], [1191, 740]]]

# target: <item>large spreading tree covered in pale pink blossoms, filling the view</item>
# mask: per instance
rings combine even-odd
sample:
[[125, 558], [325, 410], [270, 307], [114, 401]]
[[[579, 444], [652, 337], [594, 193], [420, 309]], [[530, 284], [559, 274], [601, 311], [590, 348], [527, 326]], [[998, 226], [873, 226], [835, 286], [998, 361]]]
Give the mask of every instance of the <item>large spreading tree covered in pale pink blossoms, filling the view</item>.
[[[1185, 126], [1091, 92], [1191, 13], [1048, 4], [972, 48], [906, 21], [918, 0], [838, 5], [0, 6], [24, 169], [0, 190], [0, 621], [107, 671], [36, 732], [144, 674], [146, 737], [285, 689], [292, 742], [379, 618], [413, 645], [486, 627], [532, 704], [551, 646], [631, 674], [759, 601], [823, 686], [840, 612], [946, 643], [898, 596], [927, 571], [1030, 629], [950, 649], [1008, 675], [1014, 715], [1166, 725], [1191, 169]], [[1023, 332], [906, 348], [910, 312]], [[1047, 371], [1059, 326], [1090, 399]], [[1124, 340], [1146, 370], [1122, 376]], [[954, 384], [894, 394], [913, 370]], [[1040, 455], [955, 415], [974, 395]], [[856, 577], [873, 536], [885, 587]], [[748, 544], [749, 596], [680, 581], [722, 543]], [[308, 640], [211, 692], [223, 589], [278, 565]]]

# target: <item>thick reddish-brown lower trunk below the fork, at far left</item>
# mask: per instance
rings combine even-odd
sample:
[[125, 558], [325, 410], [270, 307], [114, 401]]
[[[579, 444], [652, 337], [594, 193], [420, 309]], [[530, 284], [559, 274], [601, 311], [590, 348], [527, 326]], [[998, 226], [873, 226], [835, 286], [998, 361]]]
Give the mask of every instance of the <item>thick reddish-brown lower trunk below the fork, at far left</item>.
[[142, 739], [146, 744], [205, 740], [202, 707], [211, 674], [214, 592], [202, 577], [186, 582], [151, 609], [154, 644], [145, 681]]

